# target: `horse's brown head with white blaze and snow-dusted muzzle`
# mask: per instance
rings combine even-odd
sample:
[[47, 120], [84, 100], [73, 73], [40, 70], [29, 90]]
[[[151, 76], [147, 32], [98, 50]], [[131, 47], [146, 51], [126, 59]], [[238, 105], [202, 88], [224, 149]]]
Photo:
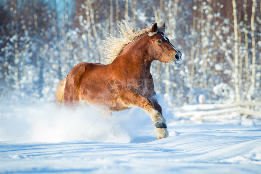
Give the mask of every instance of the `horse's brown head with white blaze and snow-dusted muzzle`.
[[162, 30], [165, 29], [165, 24], [158, 29], [157, 23], [154, 23], [151, 29], [151, 33], [157, 32], [155, 35], [151, 36], [151, 46], [149, 54], [154, 60], [159, 60], [161, 62], [171, 63], [173, 66], [178, 66], [181, 63], [181, 52], [178, 51], [169, 41], [169, 39], [164, 36]]

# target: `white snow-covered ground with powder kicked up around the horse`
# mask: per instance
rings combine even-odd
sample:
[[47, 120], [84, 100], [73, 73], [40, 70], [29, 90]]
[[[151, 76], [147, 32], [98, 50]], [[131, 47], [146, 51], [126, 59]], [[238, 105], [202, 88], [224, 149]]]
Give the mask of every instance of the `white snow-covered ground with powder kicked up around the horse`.
[[170, 132], [161, 140], [139, 108], [98, 119], [91, 107], [1, 103], [0, 173], [261, 173], [260, 120], [193, 121], [159, 103]]

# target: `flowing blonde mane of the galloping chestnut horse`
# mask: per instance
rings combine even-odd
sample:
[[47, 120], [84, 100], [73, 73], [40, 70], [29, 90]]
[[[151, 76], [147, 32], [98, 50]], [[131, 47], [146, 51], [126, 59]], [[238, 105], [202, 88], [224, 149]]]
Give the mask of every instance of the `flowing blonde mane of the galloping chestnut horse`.
[[110, 37], [107, 37], [106, 40], [103, 40], [103, 48], [101, 49], [101, 52], [107, 59], [102, 60], [101, 63], [111, 63], [116, 57], [120, 56], [127, 44], [136, 40], [141, 34], [146, 33], [148, 36], [154, 36], [157, 32], [162, 32], [165, 34], [165, 28], [161, 28], [159, 26], [156, 32], [151, 32], [152, 26], [141, 30], [125, 20], [118, 22], [117, 25], [120, 32], [120, 38], [110, 35]]

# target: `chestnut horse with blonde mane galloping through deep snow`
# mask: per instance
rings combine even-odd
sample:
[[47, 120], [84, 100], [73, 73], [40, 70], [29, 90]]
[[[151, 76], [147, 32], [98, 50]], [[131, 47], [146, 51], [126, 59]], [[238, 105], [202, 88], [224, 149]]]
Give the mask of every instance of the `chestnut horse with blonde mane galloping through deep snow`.
[[166, 138], [166, 119], [150, 67], [154, 60], [178, 66], [182, 54], [165, 36], [165, 23], [139, 29], [123, 20], [118, 29], [121, 37], [104, 40], [101, 51], [107, 59], [103, 64], [79, 63], [73, 67], [58, 85], [55, 101], [73, 108], [86, 101], [109, 112], [140, 107], [150, 115], [157, 138]]

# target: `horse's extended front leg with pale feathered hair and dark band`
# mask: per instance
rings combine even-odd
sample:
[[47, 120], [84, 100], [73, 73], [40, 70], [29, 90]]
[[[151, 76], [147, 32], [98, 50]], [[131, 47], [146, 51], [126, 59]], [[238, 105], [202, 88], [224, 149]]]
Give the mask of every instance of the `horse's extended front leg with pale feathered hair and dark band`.
[[157, 135], [158, 139], [168, 137], [166, 119], [162, 117], [162, 111], [161, 113], [157, 111], [148, 98], [141, 95], [138, 90], [131, 88], [126, 90], [125, 95], [121, 96], [121, 99], [127, 105], [141, 107], [150, 115], [153, 125], [155, 126], [154, 133]]

